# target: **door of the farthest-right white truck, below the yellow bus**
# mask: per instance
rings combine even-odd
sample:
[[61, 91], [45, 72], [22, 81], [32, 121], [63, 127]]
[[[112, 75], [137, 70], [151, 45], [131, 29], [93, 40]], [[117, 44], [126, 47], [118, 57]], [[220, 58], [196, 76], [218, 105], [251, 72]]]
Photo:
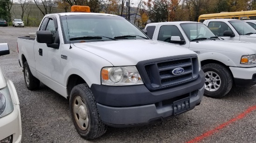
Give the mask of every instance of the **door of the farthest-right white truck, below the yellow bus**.
[[[236, 31], [232, 30], [229, 25], [225, 22], [221, 21], [211, 21], [208, 24], [209, 29], [218, 37], [222, 37], [225, 40], [236, 40], [239, 41], [240, 36], [236, 33]], [[224, 31], [231, 31], [235, 34], [235, 37], [224, 36]]]

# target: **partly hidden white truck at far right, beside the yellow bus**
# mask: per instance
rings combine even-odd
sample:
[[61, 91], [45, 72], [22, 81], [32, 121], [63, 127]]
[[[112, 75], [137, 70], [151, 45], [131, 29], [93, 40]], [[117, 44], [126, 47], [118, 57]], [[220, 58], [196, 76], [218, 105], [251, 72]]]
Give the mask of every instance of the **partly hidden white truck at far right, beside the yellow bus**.
[[256, 29], [237, 19], [208, 19], [203, 22], [218, 37], [256, 43]]

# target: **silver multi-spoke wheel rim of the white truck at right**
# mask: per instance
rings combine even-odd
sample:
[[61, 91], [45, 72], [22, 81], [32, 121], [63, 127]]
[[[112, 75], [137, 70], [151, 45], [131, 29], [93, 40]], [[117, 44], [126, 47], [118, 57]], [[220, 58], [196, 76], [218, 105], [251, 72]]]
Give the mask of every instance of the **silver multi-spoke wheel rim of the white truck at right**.
[[221, 78], [216, 72], [208, 71], [204, 73], [204, 89], [210, 92], [217, 91], [221, 87]]

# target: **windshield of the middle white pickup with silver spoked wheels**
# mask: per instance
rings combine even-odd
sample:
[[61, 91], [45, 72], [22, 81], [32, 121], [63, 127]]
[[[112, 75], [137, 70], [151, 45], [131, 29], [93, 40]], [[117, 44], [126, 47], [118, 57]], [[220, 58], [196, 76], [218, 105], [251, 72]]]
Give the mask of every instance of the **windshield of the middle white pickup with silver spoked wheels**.
[[198, 40], [216, 40], [219, 39], [213, 32], [204, 24], [200, 23], [184, 23], [181, 27], [189, 41]]

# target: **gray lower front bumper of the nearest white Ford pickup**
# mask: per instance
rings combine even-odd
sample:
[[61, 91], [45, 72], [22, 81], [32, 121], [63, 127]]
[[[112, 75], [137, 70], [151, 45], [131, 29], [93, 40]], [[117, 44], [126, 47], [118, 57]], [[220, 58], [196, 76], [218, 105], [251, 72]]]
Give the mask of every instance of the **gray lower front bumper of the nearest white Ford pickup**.
[[[190, 97], [190, 109], [199, 105], [204, 93], [204, 86], [197, 90], [197, 95]], [[174, 115], [174, 106], [160, 106], [155, 104], [148, 104], [142, 106], [131, 107], [115, 107], [105, 106], [97, 103], [97, 108], [101, 116], [101, 120], [114, 127], [126, 127], [150, 124], [154, 121], [162, 120]], [[187, 110], [187, 111], [189, 111]]]

